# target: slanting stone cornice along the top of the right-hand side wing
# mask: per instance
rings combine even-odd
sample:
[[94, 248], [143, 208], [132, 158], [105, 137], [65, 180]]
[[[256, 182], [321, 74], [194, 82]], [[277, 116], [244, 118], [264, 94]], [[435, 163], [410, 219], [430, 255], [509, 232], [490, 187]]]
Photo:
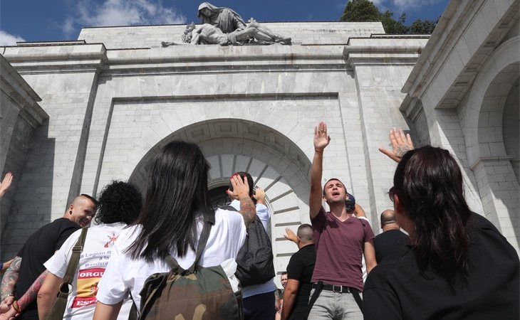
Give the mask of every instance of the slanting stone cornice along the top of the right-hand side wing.
[[435, 90], [430, 107], [457, 107], [518, 15], [518, 1], [451, 1], [402, 92], [422, 100], [428, 90]]

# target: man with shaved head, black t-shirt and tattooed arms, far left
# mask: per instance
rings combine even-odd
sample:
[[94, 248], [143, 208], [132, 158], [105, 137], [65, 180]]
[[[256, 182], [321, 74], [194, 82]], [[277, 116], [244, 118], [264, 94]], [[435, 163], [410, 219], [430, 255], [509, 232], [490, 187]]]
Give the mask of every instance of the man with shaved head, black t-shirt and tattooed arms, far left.
[[69, 235], [90, 223], [96, 206], [97, 201], [91, 196], [77, 196], [63, 217], [43, 225], [29, 236], [2, 278], [0, 312], [14, 310], [21, 314], [17, 319], [38, 319], [36, 295], [46, 277], [43, 263]]

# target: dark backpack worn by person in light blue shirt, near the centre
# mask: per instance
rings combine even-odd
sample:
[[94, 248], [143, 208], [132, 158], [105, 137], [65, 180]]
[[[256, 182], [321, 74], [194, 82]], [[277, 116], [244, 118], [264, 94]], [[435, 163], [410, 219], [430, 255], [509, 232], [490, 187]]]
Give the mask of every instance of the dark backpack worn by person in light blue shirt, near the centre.
[[[222, 209], [236, 211], [232, 206]], [[236, 255], [236, 264], [235, 275], [242, 287], [263, 284], [274, 278], [273, 247], [258, 215], [247, 227], [246, 242]]]

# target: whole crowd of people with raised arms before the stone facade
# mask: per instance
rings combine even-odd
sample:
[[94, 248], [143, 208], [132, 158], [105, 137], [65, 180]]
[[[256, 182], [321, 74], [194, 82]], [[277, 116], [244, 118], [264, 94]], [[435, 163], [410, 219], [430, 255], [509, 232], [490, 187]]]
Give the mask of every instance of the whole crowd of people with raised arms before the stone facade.
[[[449, 151], [415, 149], [409, 134], [391, 130], [392, 149], [380, 151], [397, 162], [388, 191], [393, 208], [381, 213], [383, 233], [375, 236], [342, 181], [322, 186], [329, 142], [321, 122], [313, 138], [311, 223], [296, 233], [286, 228], [298, 251], [281, 273], [283, 291], [265, 237], [271, 213], [264, 190], [238, 172], [230, 177], [229, 206], [213, 208], [202, 151], [175, 141], [155, 156], [144, 201], [135, 186], [113, 181], [98, 199], [74, 198], [62, 218], [28, 238], [2, 278], [0, 320], [164, 319], [164, 310], [175, 319], [519, 319], [519, 257], [469, 209]], [[265, 277], [248, 278], [255, 268]], [[185, 303], [193, 305], [189, 314], [155, 306], [168, 304], [168, 290], [182, 295], [175, 287], [182, 281], [206, 281], [197, 289], [204, 294], [189, 298], [201, 301]], [[232, 302], [203, 301], [212, 289], [213, 302]]]

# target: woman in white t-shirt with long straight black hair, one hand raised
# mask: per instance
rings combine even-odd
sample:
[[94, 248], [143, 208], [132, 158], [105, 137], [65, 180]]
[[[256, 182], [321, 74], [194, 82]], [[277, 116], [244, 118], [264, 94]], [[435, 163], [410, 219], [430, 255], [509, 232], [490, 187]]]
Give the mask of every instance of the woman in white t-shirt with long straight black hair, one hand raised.
[[[192, 265], [204, 215], [212, 212], [208, 171], [209, 164], [197, 144], [170, 142], [155, 156], [142, 211], [116, 241], [99, 283], [94, 319], [115, 319], [129, 293], [140, 306], [145, 279], [170, 271], [167, 255], [184, 270]], [[233, 191], [228, 192], [239, 198], [240, 210], [214, 213], [214, 225], [199, 261], [202, 267], [234, 259], [244, 244], [246, 227], [256, 216], [247, 181], [233, 176], [231, 182]]]

